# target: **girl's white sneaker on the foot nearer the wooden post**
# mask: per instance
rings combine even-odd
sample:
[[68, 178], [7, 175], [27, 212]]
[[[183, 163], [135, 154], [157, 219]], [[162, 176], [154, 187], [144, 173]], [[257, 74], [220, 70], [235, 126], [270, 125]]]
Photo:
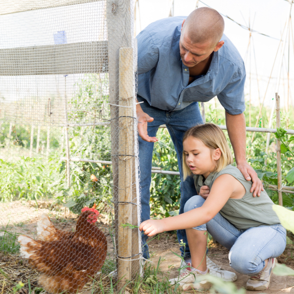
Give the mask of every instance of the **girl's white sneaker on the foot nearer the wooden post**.
[[[209, 271], [208, 271], [209, 272]], [[191, 264], [188, 263], [185, 270], [176, 278], [170, 279], [169, 282], [172, 285], [179, 284], [179, 288], [183, 291], [190, 289], [208, 290], [211, 287], [211, 283], [208, 281], [201, 281], [196, 283], [196, 276], [201, 275], [200, 272], [191, 270]]]

